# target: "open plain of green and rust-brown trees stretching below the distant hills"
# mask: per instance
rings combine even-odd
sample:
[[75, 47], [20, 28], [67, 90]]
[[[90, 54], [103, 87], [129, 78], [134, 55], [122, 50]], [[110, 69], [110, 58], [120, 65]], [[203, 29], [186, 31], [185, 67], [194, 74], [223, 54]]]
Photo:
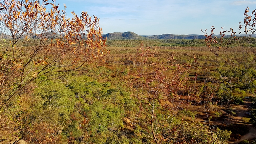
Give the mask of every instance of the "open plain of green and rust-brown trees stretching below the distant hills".
[[[254, 89], [228, 62], [243, 64], [243, 53], [233, 45], [216, 55], [203, 43], [107, 41], [110, 52], [100, 60], [51, 79], [35, 76], [8, 105], [18, 122], [13, 135], [31, 143], [150, 144], [153, 127], [162, 143], [225, 143], [230, 132], [239, 139], [250, 124], [239, 107]], [[249, 66], [255, 83], [254, 62]]]

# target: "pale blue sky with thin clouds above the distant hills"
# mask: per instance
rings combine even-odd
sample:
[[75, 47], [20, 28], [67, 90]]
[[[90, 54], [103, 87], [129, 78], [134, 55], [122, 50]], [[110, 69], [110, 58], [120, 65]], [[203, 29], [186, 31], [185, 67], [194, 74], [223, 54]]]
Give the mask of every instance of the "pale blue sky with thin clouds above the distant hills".
[[256, 9], [253, 0], [56, 0], [72, 17], [87, 11], [99, 18], [104, 34], [132, 31], [139, 35], [203, 34], [211, 26], [219, 34], [244, 21], [245, 8]]

